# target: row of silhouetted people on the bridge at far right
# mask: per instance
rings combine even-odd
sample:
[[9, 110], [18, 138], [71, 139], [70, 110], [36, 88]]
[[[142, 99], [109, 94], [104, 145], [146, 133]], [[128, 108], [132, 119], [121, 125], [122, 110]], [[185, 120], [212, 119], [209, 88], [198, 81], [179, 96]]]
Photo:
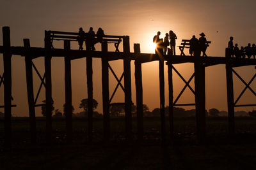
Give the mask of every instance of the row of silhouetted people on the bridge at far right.
[[248, 59], [250, 59], [252, 56], [253, 56], [253, 59], [255, 59], [255, 55], [256, 55], [255, 44], [251, 46], [251, 43], [248, 43], [247, 46], [245, 47], [241, 46], [241, 48], [239, 49], [237, 43], [235, 44], [235, 46], [233, 45], [233, 40], [234, 38], [230, 36], [230, 41], [228, 41], [228, 49], [232, 57], [244, 59], [247, 55]]

